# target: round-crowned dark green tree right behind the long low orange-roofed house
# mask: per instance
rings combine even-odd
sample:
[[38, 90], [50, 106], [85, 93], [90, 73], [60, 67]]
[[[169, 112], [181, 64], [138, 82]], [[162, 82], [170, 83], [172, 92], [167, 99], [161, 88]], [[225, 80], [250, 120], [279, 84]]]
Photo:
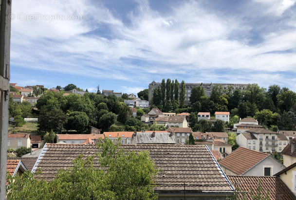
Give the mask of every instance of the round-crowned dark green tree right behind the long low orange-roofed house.
[[82, 133], [87, 130], [89, 125], [89, 117], [85, 112], [74, 111], [68, 116], [67, 129], [77, 130], [77, 132]]

